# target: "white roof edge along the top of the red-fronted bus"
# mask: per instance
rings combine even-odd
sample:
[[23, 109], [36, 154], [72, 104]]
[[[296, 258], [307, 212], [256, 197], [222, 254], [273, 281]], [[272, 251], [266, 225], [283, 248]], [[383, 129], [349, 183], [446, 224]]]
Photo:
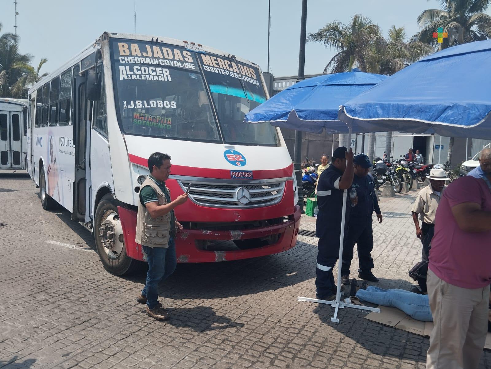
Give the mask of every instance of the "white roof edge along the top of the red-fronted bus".
[[[60, 66], [55, 71], [51, 72], [45, 78], [41, 79], [39, 82], [34, 84], [31, 88], [29, 88], [29, 94], [31, 94], [32, 91], [37, 90], [40, 86], [45, 84], [47, 81], [49, 81], [52, 78], [63, 73], [65, 70], [67, 70], [68, 68], [73, 66], [78, 61], [81, 61], [84, 57], [93, 53], [96, 49], [97, 43], [99, 43], [104, 38], [105, 35], [109, 38], [122, 38], [122, 39], [129, 39], [129, 40], [135, 40], [135, 41], [148, 41], [148, 42], [154, 41], [155, 42], [156, 40], [159, 40], [158, 41], [159, 43], [171, 44], [171, 45], [183, 46], [183, 47], [186, 47], [186, 44], [187, 44], [187, 41], [185, 42], [185, 40], [178, 40], [175, 38], [169, 38], [169, 37], [163, 37], [163, 36], [141, 35], [141, 34], [134, 34], [134, 33], [104, 32], [100, 37], [98, 37], [94, 42], [90, 43], [80, 53], [77, 53], [76, 55], [74, 55], [72, 58], [70, 58], [69, 61], [64, 63], [62, 66]], [[189, 43], [191, 43], [191, 42], [192, 41], [189, 41]], [[198, 45], [197, 43], [195, 43], [195, 44]], [[201, 45], [201, 44], [199, 44], [199, 45]], [[231, 53], [225, 53], [221, 50], [214, 49], [214, 48], [211, 48], [209, 46], [203, 45], [202, 47], [203, 47], [204, 51], [208, 52], [208, 53], [214, 53], [214, 54], [225, 56], [225, 57], [229, 57], [232, 55]], [[240, 61], [241, 63], [253, 65], [256, 68], [258, 68], [259, 70], [261, 69], [259, 67], [259, 65], [257, 65], [256, 63], [253, 63], [247, 59], [241, 58], [239, 56], [236, 56], [236, 59], [237, 59], [237, 61]]]

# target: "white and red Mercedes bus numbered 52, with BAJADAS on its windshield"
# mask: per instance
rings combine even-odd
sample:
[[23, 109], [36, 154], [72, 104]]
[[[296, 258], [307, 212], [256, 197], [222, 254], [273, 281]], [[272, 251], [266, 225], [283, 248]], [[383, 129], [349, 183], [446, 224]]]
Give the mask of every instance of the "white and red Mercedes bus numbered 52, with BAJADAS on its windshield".
[[293, 164], [279, 129], [245, 124], [268, 98], [260, 68], [187, 41], [105, 32], [29, 90], [28, 171], [44, 209], [94, 234], [111, 273], [143, 260], [135, 242], [147, 158], [172, 157], [178, 262], [270, 255], [300, 225]]

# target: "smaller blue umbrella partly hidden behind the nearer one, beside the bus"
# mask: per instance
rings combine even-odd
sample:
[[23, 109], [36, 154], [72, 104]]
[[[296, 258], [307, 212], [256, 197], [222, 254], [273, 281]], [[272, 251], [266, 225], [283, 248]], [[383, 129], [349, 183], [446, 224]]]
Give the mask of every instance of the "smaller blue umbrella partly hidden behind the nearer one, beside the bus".
[[387, 76], [346, 72], [305, 79], [246, 114], [249, 123], [271, 122], [297, 131], [348, 133], [338, 120], [339, 105], [370, 89]]

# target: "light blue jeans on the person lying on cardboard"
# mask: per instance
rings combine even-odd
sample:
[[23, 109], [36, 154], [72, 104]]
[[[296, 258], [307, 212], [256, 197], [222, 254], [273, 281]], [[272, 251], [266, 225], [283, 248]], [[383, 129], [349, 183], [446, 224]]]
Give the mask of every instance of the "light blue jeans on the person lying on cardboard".
[[373, 304], [397, 308], [416, 320], [433, 321], [428, 295], [368, 286], [366, 290], [358, 290], [356, 297]]

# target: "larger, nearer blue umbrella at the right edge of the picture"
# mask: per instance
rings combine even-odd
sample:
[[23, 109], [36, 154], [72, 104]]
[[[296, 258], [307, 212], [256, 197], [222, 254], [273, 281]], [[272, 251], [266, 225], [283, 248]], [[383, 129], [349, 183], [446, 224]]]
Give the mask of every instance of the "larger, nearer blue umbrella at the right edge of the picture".
[[428, 56], [341, 106], [353, 132], [491, 139], [491, 40]]

